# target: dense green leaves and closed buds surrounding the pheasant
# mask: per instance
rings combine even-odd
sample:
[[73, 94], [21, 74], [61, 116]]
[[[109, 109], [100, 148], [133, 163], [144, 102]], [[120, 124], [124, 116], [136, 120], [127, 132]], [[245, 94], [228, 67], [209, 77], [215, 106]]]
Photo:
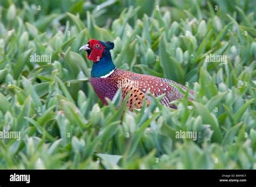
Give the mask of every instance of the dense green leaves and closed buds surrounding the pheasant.
[[[0, 139], [1, 169], [256, 169], [256, 1], [0, 5], [0, 131], [21, 132]], [[90, 38], [114, 42], [120, 69], [184, 84], [194, 101], [103, 106], [78, 51]]]

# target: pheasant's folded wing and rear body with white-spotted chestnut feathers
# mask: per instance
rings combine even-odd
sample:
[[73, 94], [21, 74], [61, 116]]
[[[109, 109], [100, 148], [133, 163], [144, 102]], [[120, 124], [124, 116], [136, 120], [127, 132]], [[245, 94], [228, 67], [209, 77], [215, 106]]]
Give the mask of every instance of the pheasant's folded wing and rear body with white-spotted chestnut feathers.
[[[168, 107], [172, 107], [176, 109], [176, 106], [170, 104], [173, 100], [182, 99], [184, 94], [179, 91], [177, 88], [173, 86], [177, 85], [184, 91], [187, 90], [181, 84], [178, 84], [174, 81], [168, 80], [167, 78], [159, 78], [155, 76], [145, 75], [145, 74], [137, 74], [131, 71], [119, 70], [120, 76], [122, 76], [123, 83], [122, 85], [122, 98], [126, 96], [126, 94], [130, 91], [130, 97], [127, 103], [129, 103], [129, 107], [132, 110], [132, 106], [135, 103], [137, 109], [140, 109], [143, 105], [143, 100], [147, 101], [147, 105], [152, 101], [152, 97], [147, 95], [147, 92], [151, 93], [151, 95], [155, 97], [159, 97], [164, 94], [161, 99], [161, 103]], [[130, 89], [130, 90], [129, 90]], [[190, 90], [190, 95], [194, 95], [194, 92]], [[138, 97], [139, 96], [139, 97]], [[193, 98], [188, 97], [189, 100], [193, 100]], [[128, 105], [128, 104], [127, 104]]]

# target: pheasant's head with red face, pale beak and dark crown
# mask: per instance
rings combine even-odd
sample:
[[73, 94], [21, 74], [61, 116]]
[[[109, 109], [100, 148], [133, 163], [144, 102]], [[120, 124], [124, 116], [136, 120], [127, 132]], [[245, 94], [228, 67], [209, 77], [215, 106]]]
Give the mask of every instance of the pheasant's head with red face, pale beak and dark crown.
[[85, 50], [87, 52], [87, 59], [93, 62], [98, 62], [103, 55], [104, 49], [109, 51], [114, 48], [114, 43], [110, 41], [100, 41], [95, 39], [90, 39], [86, 45], [80, 47], [80, 50]]

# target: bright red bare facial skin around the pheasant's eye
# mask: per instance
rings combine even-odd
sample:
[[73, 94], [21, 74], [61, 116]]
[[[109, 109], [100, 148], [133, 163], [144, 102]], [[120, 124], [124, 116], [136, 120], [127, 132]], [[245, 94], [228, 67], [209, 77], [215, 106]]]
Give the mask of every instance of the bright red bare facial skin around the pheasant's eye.
[[102, 57], [104, 46], [98, 41], [91, 39], [89, 41], [89, 47], [91, 48], [90, 55], [87, 55], [87, 59], [92, 60], [93, 62], [98, 62]]

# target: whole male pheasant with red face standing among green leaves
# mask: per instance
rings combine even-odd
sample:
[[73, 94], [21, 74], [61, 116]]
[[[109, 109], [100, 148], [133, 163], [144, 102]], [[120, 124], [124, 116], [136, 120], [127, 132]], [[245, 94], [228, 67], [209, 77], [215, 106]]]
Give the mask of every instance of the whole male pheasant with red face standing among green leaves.
[[[87, 52], [87, 59], [93, 61], [91, 84], [104, 105], [107, 105], [105, 98], [112, 100], [115, 93], [121, 88], [122, 101], [127, 94], [130, 94], [127, 101], [127, 107], [129, 107], [130, 111], [134, 107], [140, 109], [144, 101], [148, 106], [153, 99], [152, 96], [158, 97], [163, 94], [165, 95], [160, 100], [161, 104], [176, 109], [176, 106], [170, 104], [170, 102], [183, 98], [184, 94], [173, 87], [172, 84], [177, 85], [183, 90], [186, 90], [186, 87], [167, 78], [118, 69], [114, 66], [110, 54], [110, 50], [113, 48], [113, 42], [91, 39], [79, 49], [79, 51], [85, 50]], [[147, 93], [151, 93], [151, 96]], [[190, 90], [189, 93], [190, 97], [188, 97], [188, 100], [193, 100], [191, 95], [193, 96], [194, 92]]]

